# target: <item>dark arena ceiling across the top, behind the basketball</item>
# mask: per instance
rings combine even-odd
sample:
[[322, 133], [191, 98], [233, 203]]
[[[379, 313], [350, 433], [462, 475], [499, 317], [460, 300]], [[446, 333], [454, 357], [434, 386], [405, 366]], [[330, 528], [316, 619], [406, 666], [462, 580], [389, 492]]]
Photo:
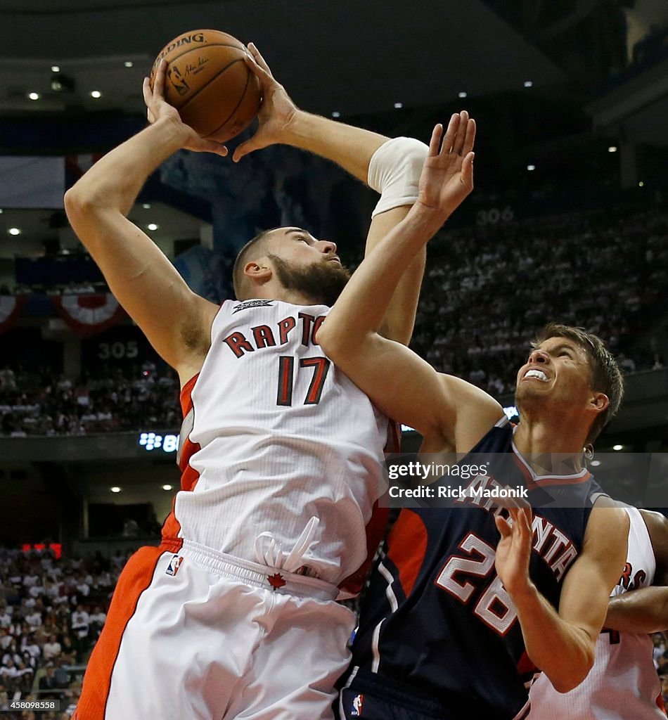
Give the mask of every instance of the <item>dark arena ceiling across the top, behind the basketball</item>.
[[[565, 79], [480, 0], [0, 0], [0, 112], [141, 111], [141, 78], [156, 53], [203, 27], [255, 42], [295, 101], [322, 114], [450, 104], [461, 92]], [[54, 64], [73, 93], [50, 90]]]

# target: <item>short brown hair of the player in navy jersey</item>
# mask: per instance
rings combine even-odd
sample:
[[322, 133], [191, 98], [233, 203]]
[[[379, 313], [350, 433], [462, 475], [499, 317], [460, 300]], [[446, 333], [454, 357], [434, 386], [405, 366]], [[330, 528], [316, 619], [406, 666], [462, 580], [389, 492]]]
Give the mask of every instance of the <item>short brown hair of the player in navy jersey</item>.
[[597, 392], [605, 392], [605, 395], [608, 395], [610, 404], [602, 413], [596, 416], [587, 435], [587, 443], [592, 443], [619, 410], [624, 397], [623, 374], [617, 361], [605, 347], [605, 343], [601, 338], [593, 333], [588, 333], [584, 328], [548, 323], [536, 335], [536, 339], [531, 343], [532, 348], [537, 348], [549, 338], [568, 338], [583, 348], [587, 353], [592, 370], [592, 389]]

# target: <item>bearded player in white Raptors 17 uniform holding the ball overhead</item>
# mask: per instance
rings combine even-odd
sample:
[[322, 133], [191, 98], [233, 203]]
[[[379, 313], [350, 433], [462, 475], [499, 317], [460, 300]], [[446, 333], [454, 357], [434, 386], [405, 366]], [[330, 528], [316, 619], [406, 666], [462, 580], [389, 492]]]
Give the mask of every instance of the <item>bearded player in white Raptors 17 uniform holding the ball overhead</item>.
[[[235, 159], [272, 143], [318, 153], [382, 192], [373, 246], [407, 213], [427, 154], [299, 111], [256, 48], [263, 84], [256, 136]], [[379, 460], [387, 418], [315, 343], [347, 279], [336, 246], [301, 228], [248, 243], [235, 266], [238, 301], [193, 294], [125, 215], [148, 175], [180, 148], [227, 154], [163, 100], [150, 127], [96, 163], [66, 195], [79, 238], [119, 302], [181, 379], [181, 492], [160, 547], [140, 549], [119, 579], [84, 678], [76, 720], [317, 720], [348, 662], [354, 592], [382, 531]], [[466, 113], [451, 121], [472, 145]], [[471, 191], [448, 161], [452, 210]], [[240, 169], [240, 171], [242, 171]], [[406, 267], [388, 336], [407, 342], [423, 258]], [[378, 526], [374, 528], [374, 523]], [[368, 545], [368, 546], [367, 546]]]

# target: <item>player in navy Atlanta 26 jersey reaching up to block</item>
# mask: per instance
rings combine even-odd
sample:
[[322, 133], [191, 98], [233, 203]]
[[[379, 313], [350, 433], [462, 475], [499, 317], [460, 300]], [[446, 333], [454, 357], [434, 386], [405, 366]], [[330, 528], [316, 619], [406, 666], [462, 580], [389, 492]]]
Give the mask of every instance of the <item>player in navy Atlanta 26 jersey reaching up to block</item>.
[[[384, 413], [423, 434], [424, 452], [493, 455], [466, 490], [522, 485], [541, 507], [532, 518], [469, 493], [457, 508], [401, 511], [361, 608], [340, 695], [346, 718], [525, 717], [536, 667], [560, 692], [589, 672], [626, 558], [628, 516], [582, 466], [622, 395], [598, 338], [559, 325], [538, 338], [518, 372], [513, 433], [487, 393], [377, 332], [400, 268], [449, 215], [438, 168], [447, 174], [444, 158], [458, 153], [460, 179], [471, 173], [471, 147], [452, 128], [442, 137], [437, 126], [417, 202], [353, 274], [317, 338]], [[554, 453], [567, 454], [570, 469], [551, 469]], [[567, 488], [570, 507], [534, 502], [554, 488]]]

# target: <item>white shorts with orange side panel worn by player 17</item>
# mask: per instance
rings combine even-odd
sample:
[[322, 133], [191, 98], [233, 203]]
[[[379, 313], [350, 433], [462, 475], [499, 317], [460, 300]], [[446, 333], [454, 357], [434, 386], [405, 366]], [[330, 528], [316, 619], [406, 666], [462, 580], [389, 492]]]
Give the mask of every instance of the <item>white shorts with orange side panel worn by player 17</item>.
[[354, 615], [321, 580], [189, 541], [127, 562], [73, 720], [318, 720]]

